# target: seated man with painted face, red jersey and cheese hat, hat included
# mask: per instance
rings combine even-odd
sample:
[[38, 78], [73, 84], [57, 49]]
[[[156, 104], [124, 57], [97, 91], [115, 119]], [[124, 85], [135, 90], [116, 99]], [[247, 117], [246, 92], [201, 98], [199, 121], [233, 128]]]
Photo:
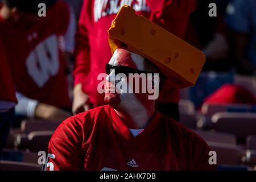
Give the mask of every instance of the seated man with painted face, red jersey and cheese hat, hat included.
[[106, 76], [98, 76], [105, 82], [108, 105], [61, 123], [49, 142], [46, 169], [215, 169], [209, 164], [207, 143], [155, 107], [155, 93], [164, 81], [180, 88], [195, 84], [203, 53], [135, 15], [129, 6], [114, 19], [109, 43], [113, 56], [106, 64]]

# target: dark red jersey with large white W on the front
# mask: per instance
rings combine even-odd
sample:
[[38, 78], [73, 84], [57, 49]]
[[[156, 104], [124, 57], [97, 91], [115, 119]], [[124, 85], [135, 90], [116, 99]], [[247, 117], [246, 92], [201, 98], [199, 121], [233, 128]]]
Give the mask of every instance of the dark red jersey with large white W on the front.
[[68, 25], [69, 8], [62, 1], [36, 23], [0, 17], [1, 38], [17, 92], [45, 104], [71, 106], [59, 43]]

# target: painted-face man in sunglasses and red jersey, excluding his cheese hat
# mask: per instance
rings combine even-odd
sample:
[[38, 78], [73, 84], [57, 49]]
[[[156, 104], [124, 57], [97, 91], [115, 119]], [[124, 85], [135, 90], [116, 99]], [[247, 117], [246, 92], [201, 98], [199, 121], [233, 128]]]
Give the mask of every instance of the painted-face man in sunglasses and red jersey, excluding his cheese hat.
[[[57, 127], [49, 141], [47, 170], [216, 168], [209, 164], [207, 143], [180, 123], [160, 114], [149, 93], [125, 93], [125, 88], [130, 88], [131, 77], [117, 78], [118, 75], [160, 73], [154, 64], [122, 47], [115, 50], [105, 68], [107, 105], [70, 117]], [[146, 78], [156, 82], [155, 89], [161, 85], [161, 76], [147, 75]], [[122, 87], [117, 87], [118, 84]]]

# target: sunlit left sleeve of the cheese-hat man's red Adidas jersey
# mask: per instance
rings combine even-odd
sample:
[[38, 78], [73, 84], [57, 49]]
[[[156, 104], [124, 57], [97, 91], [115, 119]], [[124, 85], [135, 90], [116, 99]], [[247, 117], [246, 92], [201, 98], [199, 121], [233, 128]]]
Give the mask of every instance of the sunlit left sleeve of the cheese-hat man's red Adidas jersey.
[[80, 171], [83, 169], [82, 122], [71, 117], [57, 127], [49, 141], [47, 171]]

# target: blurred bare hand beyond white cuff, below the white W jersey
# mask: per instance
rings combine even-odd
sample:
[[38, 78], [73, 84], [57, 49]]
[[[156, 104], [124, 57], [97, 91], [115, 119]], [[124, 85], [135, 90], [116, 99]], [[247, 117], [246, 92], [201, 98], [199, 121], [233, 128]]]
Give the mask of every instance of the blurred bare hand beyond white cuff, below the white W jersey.
[[58, 107], [39, 103], [35, 109], [35, 117], [49, 121], [63, 121], [71, 116], [71, 113]]

